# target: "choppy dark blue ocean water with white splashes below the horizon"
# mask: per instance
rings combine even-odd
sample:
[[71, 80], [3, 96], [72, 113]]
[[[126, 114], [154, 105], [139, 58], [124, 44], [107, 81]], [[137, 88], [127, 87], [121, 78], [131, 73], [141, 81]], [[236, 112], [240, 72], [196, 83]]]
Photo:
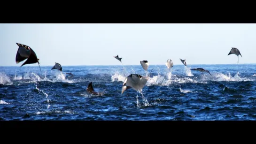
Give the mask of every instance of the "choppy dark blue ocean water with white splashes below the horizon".
[[[256, 120], [256, 64], [149, 65], [143, 96], [121, 95], [136, 66], [0, 67], [0, 120]], [[208, 73], [190, 71], [204, 68]], [[65, 73], [72, 73], [73, 76]], [[103, 96], [86, 92], [90, 82]]]

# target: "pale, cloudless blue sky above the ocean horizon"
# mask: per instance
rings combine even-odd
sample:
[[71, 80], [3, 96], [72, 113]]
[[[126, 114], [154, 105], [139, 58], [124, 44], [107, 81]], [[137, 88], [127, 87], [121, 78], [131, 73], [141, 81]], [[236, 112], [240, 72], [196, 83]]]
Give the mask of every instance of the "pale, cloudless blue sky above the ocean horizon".
[[[17, 43], [30, 46], [42, 66], [256, 63], [256, 24], [0, 24], [0, 66], [16, 64]], [[36, 66], [38, 64], [31, 64]]]

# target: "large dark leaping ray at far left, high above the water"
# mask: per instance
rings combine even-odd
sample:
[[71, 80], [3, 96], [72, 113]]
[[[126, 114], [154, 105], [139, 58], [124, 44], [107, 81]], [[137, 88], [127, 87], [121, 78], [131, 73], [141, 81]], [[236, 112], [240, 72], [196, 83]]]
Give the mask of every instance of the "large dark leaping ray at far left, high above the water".
[[[25, 61], [21, 65], [21, 67], [23, 65], [32, 64], [32, 63], [38, 63], [39, 65], [39, 59], [37, 58], [36, 53], [32, 50], [31, 47], [29, 47], [28, 45], [23, 45], [19, 43], [16, 43], [16, 44], [19, 46], [18, 51], [16, 53], [16, 64], [27, 59], [27, 61]], [[40, 65], [39, 65], [39, 68], [40, 68]], [[42, 76], [41, 68], [40, 68], [40, 72]]]

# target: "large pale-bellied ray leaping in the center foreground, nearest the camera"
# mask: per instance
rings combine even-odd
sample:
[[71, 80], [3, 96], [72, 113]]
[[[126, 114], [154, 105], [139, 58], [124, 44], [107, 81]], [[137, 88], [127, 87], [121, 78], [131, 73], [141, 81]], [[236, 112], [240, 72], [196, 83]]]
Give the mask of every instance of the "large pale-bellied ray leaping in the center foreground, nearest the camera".
[[[153, 69], [154, 68], [152, 68], [152, 70]], [[151, 72], [152, 72], [152, 70], [151, 70]], [[131, 89], [131, 88], [135, 91], [140, 92], [140, 94], [142, 94], [142, 89], [146, 85], [151, 72], [149, 73], [148, 76], [140, 76], [138, 74], [131, 74], [130, 76], [127, 76], [124, 80], [121, 94], [123, 94], [124, 91]]]

